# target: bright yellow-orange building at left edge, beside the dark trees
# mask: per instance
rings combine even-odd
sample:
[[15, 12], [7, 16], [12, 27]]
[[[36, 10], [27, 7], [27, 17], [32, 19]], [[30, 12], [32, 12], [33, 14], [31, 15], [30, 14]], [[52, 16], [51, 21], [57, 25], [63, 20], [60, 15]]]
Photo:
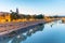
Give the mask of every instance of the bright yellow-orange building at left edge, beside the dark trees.
[[6, 12], [0, 12], [0, 23], [11, 22], [11, 14]]

